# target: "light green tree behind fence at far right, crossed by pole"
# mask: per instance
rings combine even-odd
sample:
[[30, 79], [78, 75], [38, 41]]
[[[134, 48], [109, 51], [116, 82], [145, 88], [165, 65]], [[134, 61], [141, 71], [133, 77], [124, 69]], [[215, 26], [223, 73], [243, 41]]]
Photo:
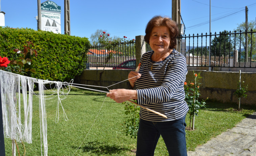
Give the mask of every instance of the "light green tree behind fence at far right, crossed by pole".
[[[236, 29], [234, 29], [233, 32], [236, 32], [238, 34], [236, 35], [232, 35], [233, 41], [235, 41], [236, 43], [236, 49], [240, 48], [240, 42], [241, 42], [241, 49], [246, 49], [246, 35], [245, 33], [241, 33], [241, 40], [240, 40], [240, 31], [241, 32], [246, 32], [246, 25], [245, 22], [242, 22], [240, 24], [237, 24], [238, 27]], [[255, 21], [250, 21], [248, 23], [248, 32], [255, 32]], [[248, 33], [248, 55], [249, 57], [251, 56], [251, 52], [252, 52], [252, 57], [253, 55], [256, 54], [256, 50], [255, 50], [255, 33]], [[243, 53], [243, 56], [245, 54]]]

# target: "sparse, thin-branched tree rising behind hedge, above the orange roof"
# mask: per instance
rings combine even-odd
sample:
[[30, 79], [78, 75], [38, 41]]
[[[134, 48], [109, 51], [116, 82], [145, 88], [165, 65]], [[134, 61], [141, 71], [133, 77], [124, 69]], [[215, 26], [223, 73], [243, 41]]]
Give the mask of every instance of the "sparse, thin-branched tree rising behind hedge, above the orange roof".
[[[98, 45], [99, 44], [99, 38], [100, 35], [102, 35], [102, 33], [105, 32], [106, 34], [110, 34], [107, 32], [107, 30], [101, 30], [101, 29], [97, 29], [93, 34], [91, 34], [90, 36], [90, 43], [92, 45]], [[109, 37], [108, 38], [109, 41], [120, 41], [121, 38], [118, 36], [113, 36], [113, 37]]]

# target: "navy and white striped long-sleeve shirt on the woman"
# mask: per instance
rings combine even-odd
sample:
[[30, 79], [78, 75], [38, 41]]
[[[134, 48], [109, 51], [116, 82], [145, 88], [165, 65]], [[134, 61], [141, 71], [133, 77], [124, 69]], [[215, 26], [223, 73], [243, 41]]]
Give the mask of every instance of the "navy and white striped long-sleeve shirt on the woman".
[[[140, 109], [140, 118], [148, 121], [171, 121], [186, 115], [188, 105], [185, 99], [184, 82], [187, 75], [185, 57], [173, 50], [163, 61], [151, 59], [154, 51], [141, 57], [140, 79], [135, 83], [138, 104], [167, 116], [167, 119]], [[152, 69], [151, 69], [152, 67]]]

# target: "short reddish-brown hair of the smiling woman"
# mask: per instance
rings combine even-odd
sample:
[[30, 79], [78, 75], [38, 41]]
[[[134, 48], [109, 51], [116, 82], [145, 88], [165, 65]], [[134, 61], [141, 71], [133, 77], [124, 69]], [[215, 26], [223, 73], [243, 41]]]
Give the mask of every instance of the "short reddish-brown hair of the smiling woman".
[[154, 27], [165, 26], [170, 32], [170, 49], [174, 49], [177, 46], [177, 36], [179, 35], [178, 24], [172, 21], [169, 17], [155, 16], [148, 23], [145, 30], [146, 35], [144, 36], [145, 42], [149, 43], [149, 38]]

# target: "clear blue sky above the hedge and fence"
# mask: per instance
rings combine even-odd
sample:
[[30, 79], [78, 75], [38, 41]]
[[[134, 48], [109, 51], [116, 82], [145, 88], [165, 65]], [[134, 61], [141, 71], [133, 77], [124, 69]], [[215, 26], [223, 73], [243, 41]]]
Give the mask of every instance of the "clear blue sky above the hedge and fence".
[[[61, 33], [64, 34], [64, 0], [51, 0], [61, 6]], [[41, 0], [41, 3], [45, 0]], [[185, 34], [209, 34], [210, 0], [181, 0], [181, 16]], [[245, 6], [248, 21], [256, 18], [255, 0], [211, 0], [211, 32], [232, 31], [245, 22]], [[37, 0], [1, 0], [5, 14], [5, 26], [37, 30]], [[145, 35], [147, 22], [155, 15], [171, 17], [171, 0], [70, 0], [71, 35], [89, 38], [97, 29], [107, 30], [111, 36], [127, 36], [133, 39]], [[200, 23], [206, 23], [199, 26]], [[192, 27], [194, 26], [194, 27]]]

